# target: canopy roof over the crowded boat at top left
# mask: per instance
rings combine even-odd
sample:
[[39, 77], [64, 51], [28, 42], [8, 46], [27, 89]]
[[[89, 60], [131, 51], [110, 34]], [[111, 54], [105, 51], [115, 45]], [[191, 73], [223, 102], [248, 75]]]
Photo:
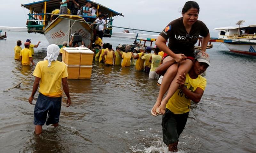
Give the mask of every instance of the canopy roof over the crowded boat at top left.
[[[60, 9], [60, 0], [42, 0], [42, 1], [38, 1], [38, 2], [33, 2], [33, 3], [28, 3], [28, 4], [21, 4], [21, 6], [30, 9], [33, 8], [34, 12], [36, 13], [42, 13], [43, 12], [43, 6], [44, 6], [44, 2], [46, 2], [46, 12], [47, 13], [51, 13], [53, 10], [55, 9]], [[92, 5], [99, 5], [99, 11], [102, 14], [107, 14], [108, 16], [114, 17], [117, 15], [121, 15], [124, 16], [122, 13], [118, 13], [112, 9], [109, 9], [106, 6], [103, 6], [99, 3], [87, 0], [87, 2], [92, 3]], [[78, 4], [80, 4], [80, 6], [85, 5], [85, 0], [78, 0]]]

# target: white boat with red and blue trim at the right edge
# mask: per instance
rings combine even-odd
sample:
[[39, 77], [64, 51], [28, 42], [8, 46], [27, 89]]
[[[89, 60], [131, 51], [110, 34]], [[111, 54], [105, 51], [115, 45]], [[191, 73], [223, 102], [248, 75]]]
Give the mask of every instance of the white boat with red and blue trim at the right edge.
[[256, 56], [256, 25], [214, 29], [219, 30], [215, 41], [224, 43], [231, 52]]

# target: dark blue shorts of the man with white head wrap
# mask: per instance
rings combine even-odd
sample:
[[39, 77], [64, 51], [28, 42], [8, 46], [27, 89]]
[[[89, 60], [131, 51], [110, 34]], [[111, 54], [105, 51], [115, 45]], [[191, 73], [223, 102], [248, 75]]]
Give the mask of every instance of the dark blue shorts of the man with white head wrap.
[[52, 98], [39, 93], [34, 110], [34, 124], [44, 125], [45, 121], [46, 125], [59, 123], [60, 107], [61, 97]]

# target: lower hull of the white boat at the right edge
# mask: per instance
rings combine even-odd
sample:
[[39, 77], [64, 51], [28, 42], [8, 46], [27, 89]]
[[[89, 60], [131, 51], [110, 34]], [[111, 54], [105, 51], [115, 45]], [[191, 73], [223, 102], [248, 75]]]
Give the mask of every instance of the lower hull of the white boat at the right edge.
[[256, 44], [224, 43], [231, 52], [256, 56]]

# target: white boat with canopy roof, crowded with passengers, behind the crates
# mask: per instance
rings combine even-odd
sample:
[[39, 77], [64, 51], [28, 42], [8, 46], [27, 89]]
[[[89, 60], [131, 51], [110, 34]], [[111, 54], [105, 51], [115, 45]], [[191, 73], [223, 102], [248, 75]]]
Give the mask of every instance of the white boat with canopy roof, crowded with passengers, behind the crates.
[[[101, 4], [93, 1], [88, 2], [97, 6], [97, 16], [99, 10], [102, 14], [107, 15], [107, 30], [104, 33], [104, 37], [111, 37], [112, 34], [112, 17], [122, 15], [113, 11]], [[70, 2], [71, 3], [71, 2]], [[83, 6], [84, 0], [79, 0], [78, 4]], [[80, 16], [71, 14], [52, 14], [53, 10], [60, 8], [60, 0], [42, 0], [29, 4], [21, 4], [21, 6], [29, 9], [27, 28], [28, 33], [41, 33], [44, 34], [49, 44], [56, 44], [60, 47], [63, 41], [71, 40], [71, 35], [79, 33], [82, 36], [82, 40], [85, 46], [88, 46], [93, 38], [93, 28], [89, 25], [90, 22], [86, 22], [85, 18], [96, 18], [96, 16]], [[56, 19], [51, 19], [52, 17]], [[93, 22], [93, 20], [91, 20]], [[108, 26], [109, 25], [109, 26]]]

